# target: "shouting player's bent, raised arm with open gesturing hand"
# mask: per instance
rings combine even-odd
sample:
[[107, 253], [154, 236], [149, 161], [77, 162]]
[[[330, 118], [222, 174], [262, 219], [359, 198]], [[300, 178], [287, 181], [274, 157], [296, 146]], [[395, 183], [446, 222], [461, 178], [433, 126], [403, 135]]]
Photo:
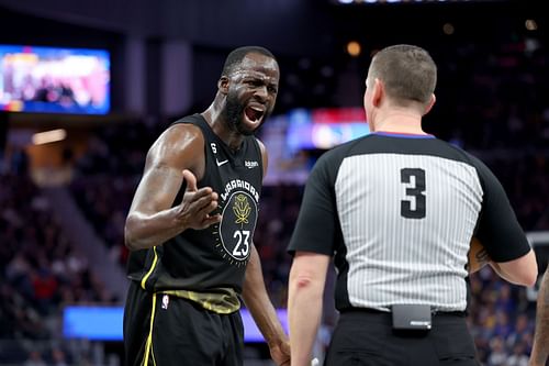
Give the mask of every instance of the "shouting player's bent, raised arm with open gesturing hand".
[[[203, 229], [220, 221], [210, 215], [217, 193], [197, 188], [204, 174], [204, 140], [199, 127], [176, 124], [166, 130], [148, 151], [143, 178], [125, 223], [125, 244], [131, 251], [149, 248], [187, 229]], [[173, 206], [183, 182], [187, 189]]]

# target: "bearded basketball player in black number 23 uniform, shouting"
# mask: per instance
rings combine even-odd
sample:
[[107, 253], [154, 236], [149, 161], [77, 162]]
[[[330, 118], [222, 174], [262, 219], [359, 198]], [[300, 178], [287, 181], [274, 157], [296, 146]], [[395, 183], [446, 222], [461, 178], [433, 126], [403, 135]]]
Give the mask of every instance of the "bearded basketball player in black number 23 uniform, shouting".
[[125, 226], [127, 365], [242, 365], [240, 297], [272, 359], [289, 365], [253, 243], [267, 169], [253, 134], [274, 108], [279, 77], [269, 51], [233, 51], [212, 104], [150, 147]]

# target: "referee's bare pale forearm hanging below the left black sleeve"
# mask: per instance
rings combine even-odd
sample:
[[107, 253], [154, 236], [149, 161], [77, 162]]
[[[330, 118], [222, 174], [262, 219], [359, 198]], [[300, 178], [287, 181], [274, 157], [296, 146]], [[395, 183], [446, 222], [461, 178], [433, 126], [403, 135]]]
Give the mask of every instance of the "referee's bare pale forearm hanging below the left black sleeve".
[[329, 259], [327, 255], [310, 252], [296, 252], [293, 258], [288, 298], [292, 366], [311, 364], [322, 318], [323, 293]]

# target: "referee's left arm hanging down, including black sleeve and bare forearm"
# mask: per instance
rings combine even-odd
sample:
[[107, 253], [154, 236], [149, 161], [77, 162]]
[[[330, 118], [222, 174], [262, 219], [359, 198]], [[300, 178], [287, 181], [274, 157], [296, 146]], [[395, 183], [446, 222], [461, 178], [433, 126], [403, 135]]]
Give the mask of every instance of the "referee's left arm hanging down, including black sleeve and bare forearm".
[[[338, 160], [334, 151], [316, 162], [309, 176], [300, 214], [288, 246], [290, 269], [288, 318], [292, 366], [310, 366], [321, 322], [328, 264], [339, 237], [334, 181]], [[337, 157], [337, 156], [336, 156]]]

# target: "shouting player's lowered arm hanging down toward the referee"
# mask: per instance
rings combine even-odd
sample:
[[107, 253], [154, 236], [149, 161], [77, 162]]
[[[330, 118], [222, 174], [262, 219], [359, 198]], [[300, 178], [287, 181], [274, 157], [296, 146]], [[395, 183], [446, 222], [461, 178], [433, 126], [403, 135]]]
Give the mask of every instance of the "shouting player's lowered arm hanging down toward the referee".
[[267, 293], [261, 263], [255, 245], [251, 245], [250, 258], [246, 268], [243, 299], [257, 328], [269, 345], [272, 359], [277, 365], [289, 366], [290, 345], [288, 336]]

